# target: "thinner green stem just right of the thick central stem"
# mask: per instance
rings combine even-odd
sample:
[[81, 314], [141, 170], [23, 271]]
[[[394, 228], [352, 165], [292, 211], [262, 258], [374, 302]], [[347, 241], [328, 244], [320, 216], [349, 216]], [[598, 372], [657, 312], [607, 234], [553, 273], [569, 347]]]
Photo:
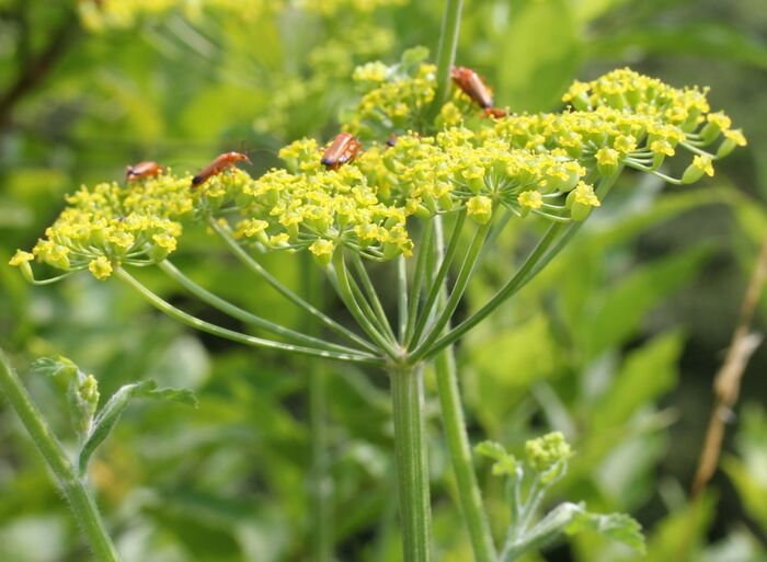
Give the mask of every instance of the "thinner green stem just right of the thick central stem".
[[[435, 220], [434, 239], [436, 260], [442, 262], [445, 252], [442, 217], [437, 217]], [[447, 301], [447, 287], [445, 284], [443, 284], [439, 300], [443, 306]], [[446, 328], [449, 328], [449, 322]], [[477, 483], [471, 458], [471, 445], [466, 431], [466, 420], [461, 406], [453, 346], [448, 345], [437, 354], [434, 360], [434, 368], [445, 438], [450, 452], [453, 472], [456, 475], [458, 502], [471, 541], [474, 562], [495, 562], [496, 553], [493, 536], [482, 504], [482, 494]]]

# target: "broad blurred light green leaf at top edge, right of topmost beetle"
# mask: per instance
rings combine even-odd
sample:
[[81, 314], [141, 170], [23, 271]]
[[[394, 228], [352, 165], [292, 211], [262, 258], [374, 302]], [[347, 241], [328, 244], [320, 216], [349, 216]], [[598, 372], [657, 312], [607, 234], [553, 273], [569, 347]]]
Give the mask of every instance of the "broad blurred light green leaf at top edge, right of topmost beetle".
[[497, 105], [514, 111], [559, 105], [581, 64], [581, 42], [570, 4], [565, 0], [522, 3], [501, 41], [496, 51], [505, 62], [499, 70]]

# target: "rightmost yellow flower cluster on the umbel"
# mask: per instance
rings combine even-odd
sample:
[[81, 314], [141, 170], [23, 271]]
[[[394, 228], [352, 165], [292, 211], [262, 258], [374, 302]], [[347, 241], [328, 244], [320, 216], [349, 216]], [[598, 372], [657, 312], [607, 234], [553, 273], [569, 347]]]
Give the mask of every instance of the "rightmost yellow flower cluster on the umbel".
[[[592, 82], [576, 81], [563, 96], [576, 111], [513, 116], [499, 124], [499, 133], [524, 139], [531, 149], [561, 147], [576, 158], [593, 159], [605, 175], [620, 164], [654, 172], [680, 147], [695, 159], [677, 182], [691, 183], [700, 179], [700, 170], [713, 175], [713, 160], [746, 145], [726, 115], [710, 113], [707, 92], [620, 69]], [[703, 150], [717, 140], [716, 153]]]

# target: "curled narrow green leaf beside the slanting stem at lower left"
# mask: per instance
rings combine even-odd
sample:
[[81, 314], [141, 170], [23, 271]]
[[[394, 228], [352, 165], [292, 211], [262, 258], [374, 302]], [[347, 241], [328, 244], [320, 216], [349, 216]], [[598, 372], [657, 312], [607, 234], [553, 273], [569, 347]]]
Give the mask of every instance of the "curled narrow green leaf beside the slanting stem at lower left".
[[112, 429], [119, 421], [121, 415], [134, 398], [147, 398], [152, 400], [168, 400], [197, 408], [197, 399], [190, 390], [172, 388], [158, 389], [153, 380], [145, 380], [133, 385], [125, 385], [115, 392], [110, 401], [96, 415], [92, 429], [85, 440], [78, 458], [78, 469], [81, 474], [88, 470], [88, 462], [99, 446], [110, 436]]

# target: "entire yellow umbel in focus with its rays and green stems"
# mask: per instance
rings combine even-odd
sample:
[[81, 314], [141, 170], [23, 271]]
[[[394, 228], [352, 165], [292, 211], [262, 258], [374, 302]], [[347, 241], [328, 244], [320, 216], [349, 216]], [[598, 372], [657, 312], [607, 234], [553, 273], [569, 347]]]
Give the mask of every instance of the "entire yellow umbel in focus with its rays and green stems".
[[[443, 45], [453, 48], [450, 42]], [[68, 196], [68, 207], [32, 252], [19, 251], [11, 264], [36, 284], [82, 271], [98, 279], [114, 276], [191, 328], [253, 347], [386, 371], [407, 562], [431, 559], [423, 371], [436, 359], [444, 424], [474, 555], [493, 562], [449, 346], [564, 248], [621, 171], [631, 168], [689, 184], [713, 174], [713, 162], [745, 139], [724, 114], [710, 111], [706, 90], [672, 88], [628, 69], [575, 82], [561, 113], [489, 118], [460, 91], [445, 103], [435, 102], [436, 77], [444, 68], [426, 57], [425, 49], [416, 48], [397, 65], [369, 62], [355, 70], [363, 93], [344, 128], [365, 150], [343, 165], [327, 169], [322, 147], [300, 139], [279, 152], [285, 168], [259, 177], [232, 168], [192, 190], [190, 174], [165, 170], [127, 185], [82, 187]], [[443, 53], [439, 59], [449, 64], [450, 57]], [[691, 159], [680, 177], [671, 177], [664, 163], [678, 152]], [[530, 219], [550, 226], [517, 273], [451, 325], [488, 244], [508, 222]], [[184, 229], [195, 225], [208, 229], [250, 274], [314, 318], [324, 332], [282, 326], [186, 277], [169, 256]], [[443, 225], [450, 232], [446, 238]], [[435, 255], [433, 248], [443, 245], [444, 253]], [[330, 318], [282, 284], [259, 261], [266, 252], [308, 252], [356, 325]], [[61, 273], [37, 279], [33, 261]], [[387, 314], [388, 294], [369, 275], [370, 262], [392, 268], [396, 318]], [[148, 266], [159, 266], [192, 295], [266, 335], [225, 329], [180, 310], [130, 273]]]

